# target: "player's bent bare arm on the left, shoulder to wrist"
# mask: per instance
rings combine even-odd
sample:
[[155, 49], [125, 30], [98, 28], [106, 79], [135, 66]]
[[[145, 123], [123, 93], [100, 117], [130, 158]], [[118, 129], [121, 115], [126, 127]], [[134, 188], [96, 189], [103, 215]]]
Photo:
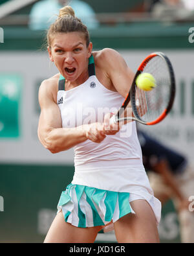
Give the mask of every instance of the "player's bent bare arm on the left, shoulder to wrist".
[[87, 140], [83, 128], [62, 128], [61, 114], [52, 97], [50, 83], [44, 81], [39, 88], [41, 114], [38, 124], [39, 141], [52, 153], [68, 150]]

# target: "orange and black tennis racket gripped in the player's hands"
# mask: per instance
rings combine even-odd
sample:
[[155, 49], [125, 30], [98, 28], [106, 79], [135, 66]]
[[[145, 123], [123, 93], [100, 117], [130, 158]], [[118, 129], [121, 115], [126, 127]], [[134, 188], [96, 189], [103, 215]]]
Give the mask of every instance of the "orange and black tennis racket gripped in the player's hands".
[[[156, 87], [151, 91], [136, 86], [136, 78], [141, 73], [149, 73], [155, 78]], [[169, 113], [174, 99], [175, 76], [171, 62], [164, 53], [153, 52], [138, 67], [129, 93], [116, 115], [111, 117], [110, 124], [127, 120], [157, 124]], [[125, 114], [127, 108], [132, 108], [133, 115]]]

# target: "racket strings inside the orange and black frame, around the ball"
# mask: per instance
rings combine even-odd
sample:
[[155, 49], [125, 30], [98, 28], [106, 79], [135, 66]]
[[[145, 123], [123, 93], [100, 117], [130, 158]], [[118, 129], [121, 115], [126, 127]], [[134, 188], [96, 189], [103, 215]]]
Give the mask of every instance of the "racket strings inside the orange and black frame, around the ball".
[[136, 113], [145, 122], [151, 122], [162, 115], [171, 95], [171, 77], [166, 61], [160, 56], [152, 58], [144, 67], [143, 73], [155, 78], [156, 87], [144, 91], [136, 87]]

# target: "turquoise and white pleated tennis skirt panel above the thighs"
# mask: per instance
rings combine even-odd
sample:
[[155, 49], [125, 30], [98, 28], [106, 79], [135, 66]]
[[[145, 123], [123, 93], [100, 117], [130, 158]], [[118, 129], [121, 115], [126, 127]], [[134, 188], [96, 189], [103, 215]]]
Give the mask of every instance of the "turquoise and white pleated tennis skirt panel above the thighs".
[[61, 193], [59, 211], [62, 211], [65, 222], [73, 226], [104, 226], [104, 232], [111, 231], [113, 223], [122, 216], [135, 213], [129, 204], [128, 192], [105, 191], [72, 183]]

